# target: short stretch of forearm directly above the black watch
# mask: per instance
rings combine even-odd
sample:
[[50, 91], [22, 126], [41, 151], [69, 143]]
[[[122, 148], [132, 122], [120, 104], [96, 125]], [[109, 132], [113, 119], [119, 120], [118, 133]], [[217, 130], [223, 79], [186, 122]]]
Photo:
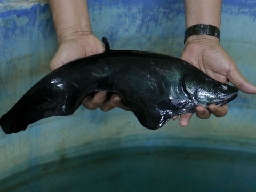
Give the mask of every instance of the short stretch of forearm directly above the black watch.
[[196, 24], [220, 28], [221, 0], [185, 0], [186, 28]]

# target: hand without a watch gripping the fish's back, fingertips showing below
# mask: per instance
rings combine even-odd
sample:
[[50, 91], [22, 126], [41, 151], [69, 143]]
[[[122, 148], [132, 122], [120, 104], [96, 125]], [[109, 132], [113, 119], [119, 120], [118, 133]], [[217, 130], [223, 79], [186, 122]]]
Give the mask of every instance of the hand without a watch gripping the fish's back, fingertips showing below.
[[[66, 36], [59, 42], [59, 49], [50, 62], [50, 68], [54, 70], [70, 61], [102, 53], [104, 50], [105, 48], [100, 40], [92, 33]], [[114, 107], [129, 110], [117, 94], [107, 97], [106, 91], [95, 92], [94, 95], [83, 101], [83, 105], [90, 110], [98, 107], [103, 111], [111, 110]]]

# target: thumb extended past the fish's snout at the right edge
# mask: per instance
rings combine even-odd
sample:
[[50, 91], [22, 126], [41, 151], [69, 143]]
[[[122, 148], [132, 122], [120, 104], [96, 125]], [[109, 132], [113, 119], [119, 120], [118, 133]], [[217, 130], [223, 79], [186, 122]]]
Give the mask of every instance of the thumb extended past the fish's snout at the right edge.
[[[233, 66], [235, 66], [235, 62], [233, 62]], [[249, 93], [256, 94], [256, 86], [247, 81], [243, 75], [239, 72], [237, 67], [231, 69], [228, 73], [228, 79], [233, 85], [235, 85], [239, 90]]]

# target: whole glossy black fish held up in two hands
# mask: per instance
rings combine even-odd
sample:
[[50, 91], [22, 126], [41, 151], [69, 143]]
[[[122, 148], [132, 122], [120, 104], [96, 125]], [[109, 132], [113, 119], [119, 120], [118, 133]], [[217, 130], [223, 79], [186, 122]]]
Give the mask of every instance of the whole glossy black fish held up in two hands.
[[139, 122], [158, 129], [197, 105], [222, 105], [238, 93], [190, 63], [169, 55], [110, 50], [72, 61], [46, 75], [0, 119], [7, 134], [25, 130], [40, 119], [72, 115], [87, 95], [106, 90], [120, 95]]

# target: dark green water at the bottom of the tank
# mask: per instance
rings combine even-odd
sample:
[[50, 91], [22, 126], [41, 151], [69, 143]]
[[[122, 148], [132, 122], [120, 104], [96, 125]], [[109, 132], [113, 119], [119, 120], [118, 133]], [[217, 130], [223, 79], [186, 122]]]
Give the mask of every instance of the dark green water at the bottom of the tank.
[[0, 191], [255, 191], [255, 154], [142, 147], [62, 158], [0, 181]]

